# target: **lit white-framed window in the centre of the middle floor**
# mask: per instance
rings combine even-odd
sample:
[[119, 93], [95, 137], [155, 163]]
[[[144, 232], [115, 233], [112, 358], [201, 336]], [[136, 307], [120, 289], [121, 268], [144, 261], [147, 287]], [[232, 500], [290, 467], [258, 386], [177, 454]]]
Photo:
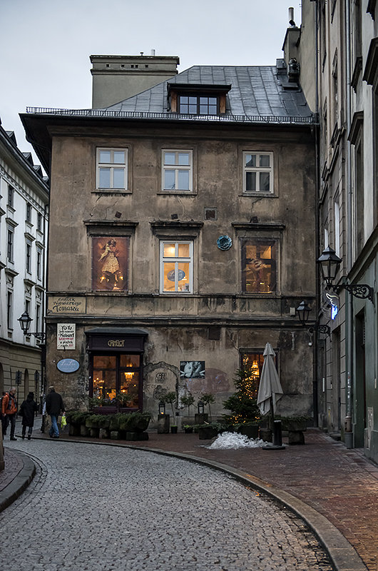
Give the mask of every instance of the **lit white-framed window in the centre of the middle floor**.
[[160, 241], [160, 293], [193, 293], [192, 241]]

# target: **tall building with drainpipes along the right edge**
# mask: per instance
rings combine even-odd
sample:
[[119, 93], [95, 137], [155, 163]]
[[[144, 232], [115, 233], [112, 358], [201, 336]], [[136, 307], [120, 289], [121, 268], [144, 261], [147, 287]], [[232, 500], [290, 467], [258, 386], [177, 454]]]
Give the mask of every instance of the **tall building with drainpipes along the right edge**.
[[318, 420], [377, 461], [377, 3], [304, 0], [302, 26], [291, 33], [320, 121], [318, 255], [332, 248], [338, 258], [332, 283], [320, 288], [331, 332], [318, 345]]

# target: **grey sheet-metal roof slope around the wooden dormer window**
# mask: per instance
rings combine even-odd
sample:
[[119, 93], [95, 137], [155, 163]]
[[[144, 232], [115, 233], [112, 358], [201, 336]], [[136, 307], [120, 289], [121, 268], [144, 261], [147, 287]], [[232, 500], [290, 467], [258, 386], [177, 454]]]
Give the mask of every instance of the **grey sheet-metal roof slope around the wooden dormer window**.
[[231, 116], [312, 116], [300, 86], [288, 84], [287, 75], [276, 66], [193, 66], [106, 109], [166, 113], [168, 84], [231, 85], [226, 103]]

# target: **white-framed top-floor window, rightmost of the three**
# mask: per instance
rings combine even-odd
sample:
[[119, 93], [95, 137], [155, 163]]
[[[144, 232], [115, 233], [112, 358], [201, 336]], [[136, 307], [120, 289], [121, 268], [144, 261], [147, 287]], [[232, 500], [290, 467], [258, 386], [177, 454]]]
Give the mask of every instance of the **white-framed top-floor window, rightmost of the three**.
[[243, 192], [273, 193], [273, 153], [243, 151]]

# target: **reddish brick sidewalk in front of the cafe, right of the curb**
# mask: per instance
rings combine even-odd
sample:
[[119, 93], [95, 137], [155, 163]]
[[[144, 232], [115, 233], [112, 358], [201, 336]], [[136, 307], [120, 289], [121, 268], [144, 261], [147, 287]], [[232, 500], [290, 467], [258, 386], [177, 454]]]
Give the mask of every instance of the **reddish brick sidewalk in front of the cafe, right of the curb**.
[[[48, 438], [39, 430], [33, 436]], [[61, 438], [93, 442], [93, 438], [71, 438], [63, 433]], [[138, 448], [196, 456], [242, 470], [289, 492], [327, 517], [354, 546], [369, 571], [378, 571], [378, 467], [364, 458], [361, 450], [347, 450], [320, 430], [307, 430], [305, 438], [304, 446], [276, 451], [210, 450], [206, 440], [184, 433], [151, 432], [146, 442], [98, 442], [135, 444]]]

